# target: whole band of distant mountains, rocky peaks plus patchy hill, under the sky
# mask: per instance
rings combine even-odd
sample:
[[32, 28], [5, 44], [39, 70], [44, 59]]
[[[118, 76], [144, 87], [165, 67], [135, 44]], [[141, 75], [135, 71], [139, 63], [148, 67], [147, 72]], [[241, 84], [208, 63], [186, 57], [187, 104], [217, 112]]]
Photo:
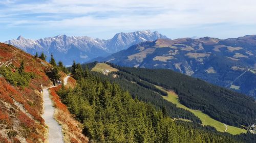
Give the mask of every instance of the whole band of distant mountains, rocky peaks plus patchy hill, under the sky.
[[256, 35], [218, 39], [168, 39], [158, 32], [118, 33], [112, 39], [56, 37], [6, 41], [24, 51], [44, 52], [71, 65], [108, 61], [120, 66], [171, 69], [256, 98]]

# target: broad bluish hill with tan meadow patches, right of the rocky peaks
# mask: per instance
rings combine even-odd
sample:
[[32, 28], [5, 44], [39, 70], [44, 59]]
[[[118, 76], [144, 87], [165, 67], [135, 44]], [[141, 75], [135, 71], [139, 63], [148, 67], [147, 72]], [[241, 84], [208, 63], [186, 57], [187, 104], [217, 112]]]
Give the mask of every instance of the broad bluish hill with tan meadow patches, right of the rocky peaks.
[[158, 39], [133, 45], [98, 61], [171, 69], [256, 98], [255, 37]]

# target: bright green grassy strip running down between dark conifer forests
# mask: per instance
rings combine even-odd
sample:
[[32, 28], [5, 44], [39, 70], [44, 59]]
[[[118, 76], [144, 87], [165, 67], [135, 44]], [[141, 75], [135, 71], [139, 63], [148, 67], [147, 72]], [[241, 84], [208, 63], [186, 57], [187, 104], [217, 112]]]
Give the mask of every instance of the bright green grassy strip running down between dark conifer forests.
[[[158, 88], [161, 89], [160, 87], [158, 87]], [[203, 113], [200, 110], [193, 110], [193, 109], [190, 109], [190, 108], [182, 105], [179, 101], [178, 95], [175, 94], [174, 92], [168, 92], [168, 91], [166, 91], [166, 92], [168, 93], [168, 96], [163, 96], [164, 99], [166, 99], [169, 102], [173, 102], [174, 104], [177, 104], [177, 106], [180, 108], [184, 108], [186, 110], [193, 112], [198, 118], [200, 118], [203, 125], [209, 125], [209, 126], [215, 127], [220, 132], [225, 131], [226, 126], [223, 123], [210, 118], [208, 115], [206, 115], [205, 113]], [[241, 128], [237, 128], [237, 127], [233, 127], [233, 126], [229, 126], [229, 125], [227, 125], [227, 126], [228, 126], [228, 128], [227, 128], [226, 132], [228, 132], [228, 133], [231, 133], [231, 134], [240, 134], [243, 132], [246, 133], [245, 129], [241, 129]]]

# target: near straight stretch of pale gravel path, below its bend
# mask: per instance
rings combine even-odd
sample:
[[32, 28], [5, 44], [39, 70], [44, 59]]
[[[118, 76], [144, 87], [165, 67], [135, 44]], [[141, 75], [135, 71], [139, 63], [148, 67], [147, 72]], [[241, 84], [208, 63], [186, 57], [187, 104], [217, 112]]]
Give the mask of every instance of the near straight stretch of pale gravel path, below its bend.
[[42, 115], [42, 118], [45, 119], [46, 125], [49, 127], [48, 140], [49, 143], [64, 143], [61, 126], [53, 118], [55, 108], [53, 107], [52, 100], [49, 97], [48, 89], [43, 90], [44, 114]]

